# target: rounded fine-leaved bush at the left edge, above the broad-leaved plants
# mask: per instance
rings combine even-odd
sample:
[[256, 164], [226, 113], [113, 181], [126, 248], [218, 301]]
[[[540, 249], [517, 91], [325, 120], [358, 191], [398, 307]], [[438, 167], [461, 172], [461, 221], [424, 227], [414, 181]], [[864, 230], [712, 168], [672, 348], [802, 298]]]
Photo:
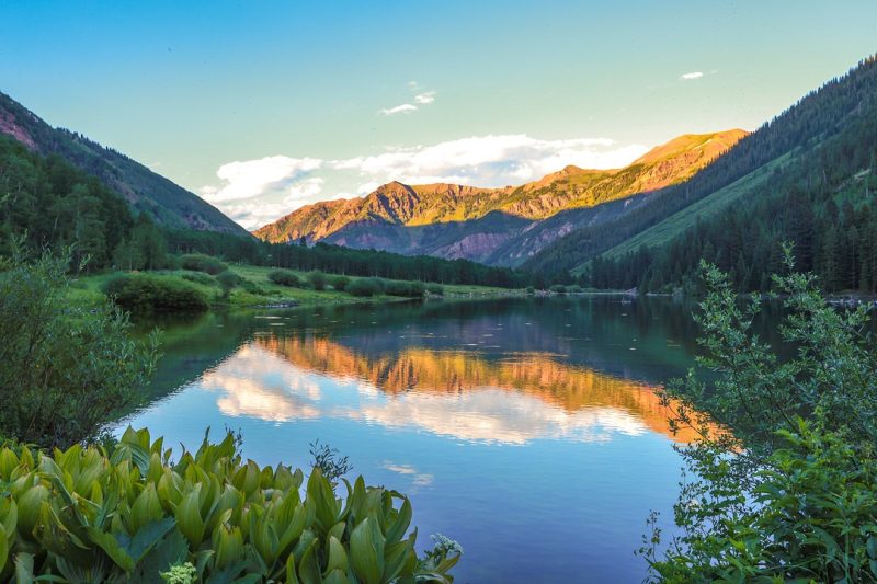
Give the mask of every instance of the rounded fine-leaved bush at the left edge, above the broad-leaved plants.
[[[109, 302], [69, 300], [66, 259], [12, 260], [0, 274], [0, 434], [42, 446], [93, 437], [128, 405], [155, 366]], [[2, 485], [0, 485], [2, 496]]]

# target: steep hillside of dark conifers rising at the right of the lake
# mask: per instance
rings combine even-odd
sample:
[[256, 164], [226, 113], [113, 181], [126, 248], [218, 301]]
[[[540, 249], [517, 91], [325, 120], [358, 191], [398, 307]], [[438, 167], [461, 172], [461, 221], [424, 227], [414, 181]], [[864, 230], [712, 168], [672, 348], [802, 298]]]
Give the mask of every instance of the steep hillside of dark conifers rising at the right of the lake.
[[781, 242], [788, 241], [798, 267], [815, 272], [827, 290], [877, 291], [877, 59], [772, 126], [784, 117], [796, 122], [788, 133], [816, 130], [815, 137], [745, 197], [664, 241], [656, 240], [657, 231], [676, 219], [659, 222], [635, 251], [596, 257], [584, 278], [611, 288], [691, 286], [703, 257], [728, 272], [738, 289], [764, 290], [782, 267]]

